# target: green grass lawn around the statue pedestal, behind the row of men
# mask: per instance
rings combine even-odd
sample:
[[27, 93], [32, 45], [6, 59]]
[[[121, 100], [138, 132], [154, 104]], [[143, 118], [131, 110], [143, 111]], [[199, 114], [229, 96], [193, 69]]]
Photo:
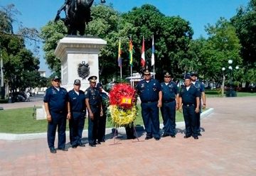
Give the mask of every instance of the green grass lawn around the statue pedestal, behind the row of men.
[[[143, 126], [141, 108], [134, 125]], [[88, 127], [88, 121], [85, 119], [85, 129]], [[176, 111], [176, 121], [183, 121], [183, 115]], [[162, 123], [160, 113], [160, 123]], [[107, 128], [112, 128], [110, 121], [107, 121]], [[0, 111], [0, 133], [43, 133], [46, 132], [47, 121], [33, 119], [33, 107], [23, 109], [8, 109]], [[67, 131], [68, 123], [67, 123]]]

